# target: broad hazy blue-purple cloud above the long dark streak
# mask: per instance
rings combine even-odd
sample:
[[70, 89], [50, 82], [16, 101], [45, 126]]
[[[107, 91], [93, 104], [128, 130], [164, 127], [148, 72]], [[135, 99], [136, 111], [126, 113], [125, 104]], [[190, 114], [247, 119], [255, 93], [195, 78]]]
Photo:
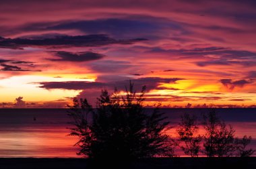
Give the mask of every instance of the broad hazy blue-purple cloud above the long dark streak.
[[[33, 31], [68, 31], [78, 30], [84, 34], [108, 34], [115, 38], [143, 38], [159, 39], [162, 30], [168, 29], [170, 32], [188, 32], [181, 23], [169, 21], [163, 17], [154, 17], [149, 15], [126, 15], [124, 17], [109, 17], [98, 19], [74, 19], [60, 21], [46, 21], [26, 23], [19, 27], [15, 32], [33, 32]], [[55, 33], [56, 34], [56, 33]], [[51, 36], [51, 34], [45, 34]], [[35, 35], [24, 36], [36, 38]]]

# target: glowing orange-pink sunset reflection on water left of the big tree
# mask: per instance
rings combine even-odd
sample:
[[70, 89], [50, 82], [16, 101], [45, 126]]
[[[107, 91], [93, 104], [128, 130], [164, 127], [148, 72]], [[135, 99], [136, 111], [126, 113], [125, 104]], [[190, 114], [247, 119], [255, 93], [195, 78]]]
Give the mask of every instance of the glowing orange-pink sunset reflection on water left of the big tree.
[[67, 137], [67, 125], [1, 126], [1, 157], [79, 157], [75, 137]]

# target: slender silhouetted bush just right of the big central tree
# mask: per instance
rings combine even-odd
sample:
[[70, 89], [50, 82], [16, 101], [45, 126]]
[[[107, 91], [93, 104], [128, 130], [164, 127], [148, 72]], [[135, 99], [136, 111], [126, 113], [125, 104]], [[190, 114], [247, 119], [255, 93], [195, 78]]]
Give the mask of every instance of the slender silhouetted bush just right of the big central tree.
[[189, 115], [189, 113], [182, 115], [177, 133], [179, 141], [185, 144], [185, 146], [181, 146], [185, 154], [191, 157], [197, 157], [200, 150], [201, 136], [198, 134], [195, 115]]

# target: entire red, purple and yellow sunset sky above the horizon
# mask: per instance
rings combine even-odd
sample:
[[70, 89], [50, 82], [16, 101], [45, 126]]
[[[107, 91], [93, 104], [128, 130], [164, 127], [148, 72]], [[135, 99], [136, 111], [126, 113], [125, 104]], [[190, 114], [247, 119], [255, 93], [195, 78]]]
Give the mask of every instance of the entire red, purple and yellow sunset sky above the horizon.
[[0, 107], [93, 104], [129, 80], [147, 105], [249, 107], [256, 1], [3, 0], [0, 70]]

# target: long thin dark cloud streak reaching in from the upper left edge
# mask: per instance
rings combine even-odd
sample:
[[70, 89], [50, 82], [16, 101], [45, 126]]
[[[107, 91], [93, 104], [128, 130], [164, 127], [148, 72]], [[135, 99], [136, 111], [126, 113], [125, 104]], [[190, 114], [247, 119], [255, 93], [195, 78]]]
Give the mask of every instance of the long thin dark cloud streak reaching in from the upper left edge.
[[86, 36], [57, 36], [55, 38], [0, 38], [0, 48], [23, 49], [25, 47], [38, 48], [71, 48], [86, 46], [105, 46], [109, 44], [133, 44], [146, 39], [115, 40], [104, 34]]

